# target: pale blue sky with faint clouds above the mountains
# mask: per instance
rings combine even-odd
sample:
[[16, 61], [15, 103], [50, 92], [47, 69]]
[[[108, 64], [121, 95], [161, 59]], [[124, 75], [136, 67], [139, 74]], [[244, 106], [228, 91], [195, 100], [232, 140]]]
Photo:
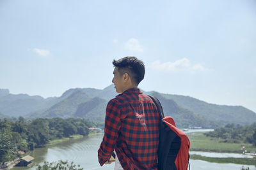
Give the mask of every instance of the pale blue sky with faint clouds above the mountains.
[[256, 1], [0, 0], [0, 89], [61, 96], [145, 63], [142, 90], [256, 112]]

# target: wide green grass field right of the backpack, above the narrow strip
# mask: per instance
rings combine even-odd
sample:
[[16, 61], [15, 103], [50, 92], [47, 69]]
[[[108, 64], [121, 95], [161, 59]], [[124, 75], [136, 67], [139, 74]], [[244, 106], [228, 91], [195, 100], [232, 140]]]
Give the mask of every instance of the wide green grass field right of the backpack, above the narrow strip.
[[205, 152], [232, 152], [241, 153], [242, 146], [248, 152], [256, 151], [256, 147], [249, 143], [223, 143], [221, 139], [210, 138], [204, 135], [204, 132], [188, 134], [190, 141], [190, 150]]

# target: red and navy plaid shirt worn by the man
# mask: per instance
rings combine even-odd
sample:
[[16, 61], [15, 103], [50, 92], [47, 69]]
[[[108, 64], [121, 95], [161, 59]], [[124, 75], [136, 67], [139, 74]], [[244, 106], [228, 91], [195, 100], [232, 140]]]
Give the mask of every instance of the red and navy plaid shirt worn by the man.
[[113, 150], [124, 169], [157, 169], [159, 113], [140, 89], [129, 89], [109, 101], [104, 137], [98, 150], [100, 166]]

